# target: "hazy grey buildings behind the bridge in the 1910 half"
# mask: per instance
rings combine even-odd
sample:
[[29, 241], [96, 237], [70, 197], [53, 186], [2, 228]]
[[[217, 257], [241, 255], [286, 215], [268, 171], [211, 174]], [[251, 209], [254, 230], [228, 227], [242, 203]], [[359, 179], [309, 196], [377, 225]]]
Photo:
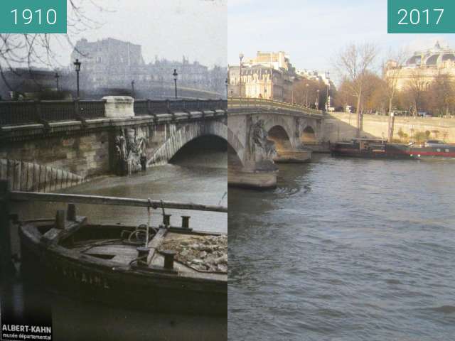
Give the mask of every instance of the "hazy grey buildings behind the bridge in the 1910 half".
[[225, 94], [225, 67], [209, 70], [197, 61], [190, 63], [184, 56], [181, 61], [156, 57], [154, 63], [146, 63], [141, 45], [122, 40], [107, 38], [89, 42], [81, 39], [75, 45], [71, 63], [75, 59], [82, 63], [81, 79], [83, 77], [85, 88], [90, 90], [130, 89], [134, 80], [138, 92], [156, 92], [159, 88], [173, 87], [173, 70], [176, 69], [179, 87]]

